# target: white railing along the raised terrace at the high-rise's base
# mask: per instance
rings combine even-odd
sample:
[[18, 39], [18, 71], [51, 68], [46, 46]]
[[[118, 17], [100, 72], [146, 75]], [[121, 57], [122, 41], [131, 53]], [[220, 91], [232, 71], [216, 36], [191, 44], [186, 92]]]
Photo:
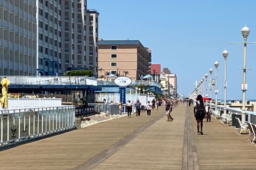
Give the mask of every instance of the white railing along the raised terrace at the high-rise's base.
[[[4, 76], [0, 76], [0, 81]], [[30, 85], [66, 85], [80, 84], [97, 86], [97, 79], [89, 77], [68, 77], [68, 76], [7, 76], [10, 84], [30, 84]]]

